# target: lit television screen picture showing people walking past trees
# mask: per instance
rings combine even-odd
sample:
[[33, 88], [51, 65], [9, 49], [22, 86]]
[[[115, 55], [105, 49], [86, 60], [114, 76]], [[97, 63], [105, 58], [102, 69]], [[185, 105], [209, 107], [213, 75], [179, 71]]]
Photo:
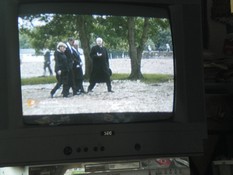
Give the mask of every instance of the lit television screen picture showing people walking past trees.
[[[23, 116], [173, 112], [174, 57], [168, 17], [19, 15], [18, 31]], [[110, 68], [110, 85], [105, 75], [97, 76], [103, 65], [94, 65], [91, 56], [97, 38], [106, 49], [101, 58]], [[69, 39], [73, 42], [67, 45]], [[63, 75], [55, 68], [61, 43], [65, 50], [76, 47], [80, 58], [78, 67], [72, 60], [68, 80], [56, 79]], [[94, 80], [90, 88], [90, 79], [96, 76], [103, 81]], [[58, 81], [60, 87], [51, 93]], [[77, 88], [80, 82], [83, 89]]]

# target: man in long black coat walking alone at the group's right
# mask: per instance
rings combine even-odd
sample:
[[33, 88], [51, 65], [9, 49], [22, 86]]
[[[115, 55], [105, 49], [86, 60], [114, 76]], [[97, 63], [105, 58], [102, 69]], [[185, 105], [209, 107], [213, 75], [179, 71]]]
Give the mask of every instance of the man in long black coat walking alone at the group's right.
[[109, 68], [109, 58], [107, 49], [103, 46], [102, 38], [96, 39], [96, 44], [91, 48], [90, 57], [92, 60], [92, 71], [89, 80], [88, 92], [92, 91], [96, 83], [105, 82], [108, 92], [112, 91], [111, 69]]

